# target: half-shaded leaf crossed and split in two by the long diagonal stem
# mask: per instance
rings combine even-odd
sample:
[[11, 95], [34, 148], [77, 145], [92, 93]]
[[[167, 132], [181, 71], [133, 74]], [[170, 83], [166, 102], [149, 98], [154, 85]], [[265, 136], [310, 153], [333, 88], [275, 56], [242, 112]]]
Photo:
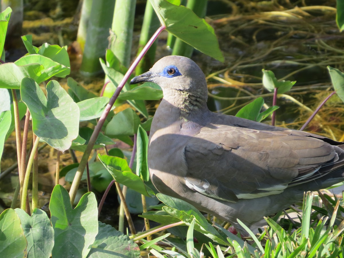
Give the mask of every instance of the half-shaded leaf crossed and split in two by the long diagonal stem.
[[[92, 133], [93, 133], [93, 130], [91, 128], [89, 128], [89, 127], [82, 127], [82, 128], [80, 128], [79, 129], [79, 135], [78, 135], [78, 138], [77, 138], [79, 140], [78, 141], [75, 141], [75, 140], [73, 141], [71, 149], [84, 152], [85, 149], [86, 149], [86, 146], [87, 146], [87, 144], [89, 142], [89, 139], [92, 136]], [[80, 138], [83, 139], [84, 141], [80, 141]], [[82, 143], [82, 144], [80, 144], [80, 143]], [[101, 148], [105, 144], [114, 144], [114, 143], [115, 142], [112, 141], [111, 138], [103, 135], [103, 133], [100, 132], [98, 137], [97, 137], [96, 142], [94, 143], [93, 149]]]

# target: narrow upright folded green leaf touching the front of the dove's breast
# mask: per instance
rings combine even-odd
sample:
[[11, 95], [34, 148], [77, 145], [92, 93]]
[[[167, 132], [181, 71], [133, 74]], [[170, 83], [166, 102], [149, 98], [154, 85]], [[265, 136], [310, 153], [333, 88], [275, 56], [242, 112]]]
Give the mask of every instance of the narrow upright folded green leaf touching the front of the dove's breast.
[[147, 132], [139, 125], [137, 130], [137, 152], [136, 152], [136, 174], [141, 176], [143, 181], [149, 180], [147, 152], [148, 152], [148, 136]]

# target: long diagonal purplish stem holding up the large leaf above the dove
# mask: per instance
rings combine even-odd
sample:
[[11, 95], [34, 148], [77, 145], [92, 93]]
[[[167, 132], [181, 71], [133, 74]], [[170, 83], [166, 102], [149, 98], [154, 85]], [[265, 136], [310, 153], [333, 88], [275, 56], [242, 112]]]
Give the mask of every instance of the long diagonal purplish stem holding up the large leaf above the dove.
[[165, 29], [166, 27], [164, 25], [162, 25], [155, 33], [154, 35], [151, 37], [151, 39], [149, 40], [149, 42], [147, 43], [147, 45], [143, 48], [143, 50], [141, 51], [140, 55], [138, 55], [135, 59], [135, 61], [132, 63], [132, 65], [129, 67], [127, 73], [124, 75], [122, 81], [119, 83], [117, 89], [115, 90], [114, 95], [112, 95], [112, 97], [109, 100], [109, 103], [107, 104], [103, 114], [100, 116], [99, 121], [92, 133], [92, 136], [89, 139], [89, 142], [87, 144], [86, 150], [83, 154], [83, 157], [79, 163], [79, 167], [78, 170], [75, 174], [72, 186], [71, 186], [71, 190], [69, 191], [69, 195], [71, 196], [71, 203], [74, 203], [74, 199], [75, 199], [75, 195], [76, 192], [78, 190], [80, 181], [81, 181], [81, 177], [83, 175], [83, 172], [85, 170], [86, 167], [86, 163], [88, 161], [88, 157], [92, 152], [93, 146], [97, 140], [97, 137], [99, 135], [99, 132], [101, 130], [101, 128], [104, 125], [104, 122], [106, 120], [106, 117], [108, 116], [111, 107], [114, 105], [119, 93], [121, 92], [122, 88], [124, 87], [125, 83], [127, 82], [127, 80], [129, 79], [129, 76], [132, 74], [132, 72], [134, 71], [134, 69], [136, 68], [137, 64], [140, 62], [140, 60], [142, 59], [143, 55], [146, 54], [147, 50], [149, 49], [149, 47], [153, 44], [153, 42], [155, 41], [155, 39], [157, 39], [158, 35]]

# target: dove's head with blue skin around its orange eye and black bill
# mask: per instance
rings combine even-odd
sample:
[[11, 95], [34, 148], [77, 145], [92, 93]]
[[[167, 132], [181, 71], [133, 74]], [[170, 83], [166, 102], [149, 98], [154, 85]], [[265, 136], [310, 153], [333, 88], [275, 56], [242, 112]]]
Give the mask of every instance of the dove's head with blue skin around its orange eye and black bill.
[[170, 95], [194, 96], [207, 100], [205, 76], [198, 65], [184, 56], [165, 56], [147, 72], [134, 77], [130, 84], [154, 82], [164, 93]]

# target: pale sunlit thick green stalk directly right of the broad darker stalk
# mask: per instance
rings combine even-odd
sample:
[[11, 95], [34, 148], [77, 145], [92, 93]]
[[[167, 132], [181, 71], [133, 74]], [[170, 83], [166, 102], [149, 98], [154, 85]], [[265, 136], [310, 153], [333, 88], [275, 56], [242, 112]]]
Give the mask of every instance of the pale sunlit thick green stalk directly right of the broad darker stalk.
[[116, 1], [111, 26], [110, 49], [122, 65], [129, 67], [136, 0]]

